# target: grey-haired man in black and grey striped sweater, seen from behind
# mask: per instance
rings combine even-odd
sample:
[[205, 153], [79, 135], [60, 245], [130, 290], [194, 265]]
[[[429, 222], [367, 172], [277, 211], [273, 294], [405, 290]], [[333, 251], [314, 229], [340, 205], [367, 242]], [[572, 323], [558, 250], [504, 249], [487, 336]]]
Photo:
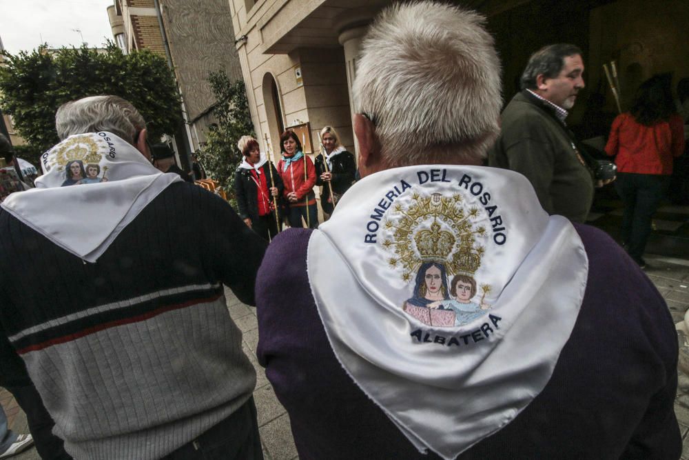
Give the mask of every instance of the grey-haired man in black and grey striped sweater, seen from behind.
[[0, 333], [53, 432], [74, 459], [262, 459], [223, 284], [254, 303], [265, 241], [151, 165], [124, 99], [66, 103], [56, 129], [37, 188], [0, 210]]

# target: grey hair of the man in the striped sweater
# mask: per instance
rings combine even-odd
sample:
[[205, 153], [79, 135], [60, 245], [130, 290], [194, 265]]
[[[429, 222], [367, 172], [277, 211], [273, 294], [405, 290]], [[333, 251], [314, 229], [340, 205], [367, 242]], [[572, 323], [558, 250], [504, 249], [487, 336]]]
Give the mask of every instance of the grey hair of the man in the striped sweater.
[[108, 131], [125, 141], [136, 143], [136, 134], [146, 122], [129, 101], [117, 96], [91, 96], [64, 103], [55, 114], [60, 139], [73, 134]]

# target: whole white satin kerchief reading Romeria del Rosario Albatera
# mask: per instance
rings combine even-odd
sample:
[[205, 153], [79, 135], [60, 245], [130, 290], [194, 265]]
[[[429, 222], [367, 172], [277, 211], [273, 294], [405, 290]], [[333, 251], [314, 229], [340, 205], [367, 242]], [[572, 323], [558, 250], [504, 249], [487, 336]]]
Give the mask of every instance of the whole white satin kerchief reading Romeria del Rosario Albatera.
[[521, 174], [470, 166], [362, 179], [313, 232], [307, 261], [342, 366], [416, 448], [444, 459], [543, 390], [588, 274], [575, 228], [548, 217]]

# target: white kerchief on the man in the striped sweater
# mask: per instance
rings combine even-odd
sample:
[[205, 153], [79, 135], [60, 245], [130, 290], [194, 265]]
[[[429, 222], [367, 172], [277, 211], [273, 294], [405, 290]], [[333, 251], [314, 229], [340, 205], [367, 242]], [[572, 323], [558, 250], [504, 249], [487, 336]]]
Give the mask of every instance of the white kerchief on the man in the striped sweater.
[[[65, 159], [97, 164], [107, 181], [62, 186]], [[2, 207], [84, 261], [96, 262], [178, 174], [163, 174], [130, 143], [110, 132], [75, 134], [41, 157], [36, 187], [13, 193]]]

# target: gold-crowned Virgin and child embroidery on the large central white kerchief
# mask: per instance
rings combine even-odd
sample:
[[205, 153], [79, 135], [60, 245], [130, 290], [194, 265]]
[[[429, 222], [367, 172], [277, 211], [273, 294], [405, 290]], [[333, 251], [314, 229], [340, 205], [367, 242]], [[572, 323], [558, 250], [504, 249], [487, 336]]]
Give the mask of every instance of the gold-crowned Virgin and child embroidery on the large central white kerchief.
[[[486, 230], [480, 210], [460, 194], [412, 194], [411, 206], [395, 206], [384, 227], [382, 243], [394, 252], [393, 268], [402, 268], [402, 279], [413, 283], [411, 297], [402, 310], [428, 326], [452, 328], [471, 323], [491, 308], [474, 277], [480, 268]], [[480, 292], [479, 292], [480, 291]]]

